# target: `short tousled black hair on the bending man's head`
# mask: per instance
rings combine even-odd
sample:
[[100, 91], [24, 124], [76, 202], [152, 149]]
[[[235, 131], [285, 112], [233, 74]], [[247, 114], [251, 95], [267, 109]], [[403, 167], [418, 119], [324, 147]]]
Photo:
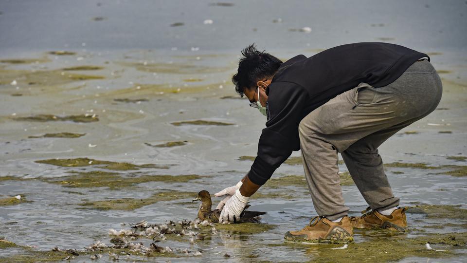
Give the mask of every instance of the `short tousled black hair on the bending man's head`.
[[256, 86], [256, 82], [264, 77], [271, 77], [276, 72], [282, 61], [266, 53], [256, 50], [254, 43], [242, 51], [243, 57], [238, 62], [238, 71], [232, 77], [235, 91], [243, 97], [245, 89]]

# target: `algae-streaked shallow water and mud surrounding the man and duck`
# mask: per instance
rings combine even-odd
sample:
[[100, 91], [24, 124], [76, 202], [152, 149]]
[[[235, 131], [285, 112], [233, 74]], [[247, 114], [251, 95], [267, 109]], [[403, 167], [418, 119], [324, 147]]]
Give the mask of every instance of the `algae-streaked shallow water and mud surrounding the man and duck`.
[[[21, 2], [0, 4], [0, 263], [466, 262], [464, 1]], [[248, 173], [267, 121], [234, 91], [241, 49], [287, 60], [365, 41], [426, 53], [442, 78], [437, 109], [378, 148], [409, 231], [285, 242], [317, 215], [300, 151], [251, 197], [260, 223], [195, 222], [198, 191]]]

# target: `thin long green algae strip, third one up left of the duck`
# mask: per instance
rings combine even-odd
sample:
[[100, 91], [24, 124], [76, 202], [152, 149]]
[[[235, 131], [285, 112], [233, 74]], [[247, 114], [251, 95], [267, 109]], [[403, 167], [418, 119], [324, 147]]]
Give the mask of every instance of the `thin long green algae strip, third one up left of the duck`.
[[101, 161], [94, 160], [89, 158], [74, 158], [74, 159], [47, 159], [47, 160], [38, 160], [38, 164], [49, 164], [60, 167], [98, 167], [109, 170], [138, 170], [144, 168], [154, 168], [154, 169], [168, 169], [167, 166], [158, 166], [155, 164], [144, 164], [144, 165], [135, 165], [129, 163], [118, 163], [111, 161]]

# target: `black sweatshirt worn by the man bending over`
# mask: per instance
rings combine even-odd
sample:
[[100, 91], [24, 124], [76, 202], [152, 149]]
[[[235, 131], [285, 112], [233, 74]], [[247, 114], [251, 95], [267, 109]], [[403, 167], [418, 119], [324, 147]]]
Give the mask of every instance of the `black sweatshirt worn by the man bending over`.
[[293, 150], [300, 150], [298, 125], [308, 113], [361, 82], [386, 86], [425, 56], [395, 44], [367, 42], [284, 62], [266, 89], [268, 121], [248, 173], [251, 182], [263, 185]]

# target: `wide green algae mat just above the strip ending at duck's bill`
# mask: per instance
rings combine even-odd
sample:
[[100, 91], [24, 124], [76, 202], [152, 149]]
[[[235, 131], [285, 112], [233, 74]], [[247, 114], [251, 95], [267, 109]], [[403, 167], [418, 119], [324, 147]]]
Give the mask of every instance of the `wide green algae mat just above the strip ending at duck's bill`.
[[128, 188], [147, 182], [186, 183], [200, 179], [202, 176], [189, 175], [141, 175], [123, 177], [118, 173], [106, 171], [75, 172], [70, 176], [59, 178], [44, 178], [44, 182], [58, 184], [70, 188], [107, 187], [109, 189]]

